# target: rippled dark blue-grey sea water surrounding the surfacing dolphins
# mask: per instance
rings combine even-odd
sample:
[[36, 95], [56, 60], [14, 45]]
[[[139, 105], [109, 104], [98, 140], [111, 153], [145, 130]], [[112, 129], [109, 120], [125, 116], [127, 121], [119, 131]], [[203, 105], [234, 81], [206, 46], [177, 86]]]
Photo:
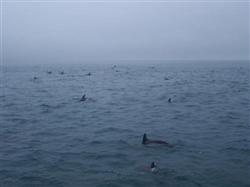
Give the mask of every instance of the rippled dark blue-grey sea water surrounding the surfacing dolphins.
[[[249, 70], [238, 62], [5, 66], [0, 186], [249, 187]], [[143, 133], [174, 147], [143, 146]]]

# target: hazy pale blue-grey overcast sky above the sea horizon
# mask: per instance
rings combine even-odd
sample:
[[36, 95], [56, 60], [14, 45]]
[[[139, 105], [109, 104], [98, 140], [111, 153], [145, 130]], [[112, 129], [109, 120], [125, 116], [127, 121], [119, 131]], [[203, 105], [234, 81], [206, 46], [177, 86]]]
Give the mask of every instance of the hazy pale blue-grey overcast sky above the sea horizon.
[[249, 59], [249, 3], [3, 3], [4, 62]]

